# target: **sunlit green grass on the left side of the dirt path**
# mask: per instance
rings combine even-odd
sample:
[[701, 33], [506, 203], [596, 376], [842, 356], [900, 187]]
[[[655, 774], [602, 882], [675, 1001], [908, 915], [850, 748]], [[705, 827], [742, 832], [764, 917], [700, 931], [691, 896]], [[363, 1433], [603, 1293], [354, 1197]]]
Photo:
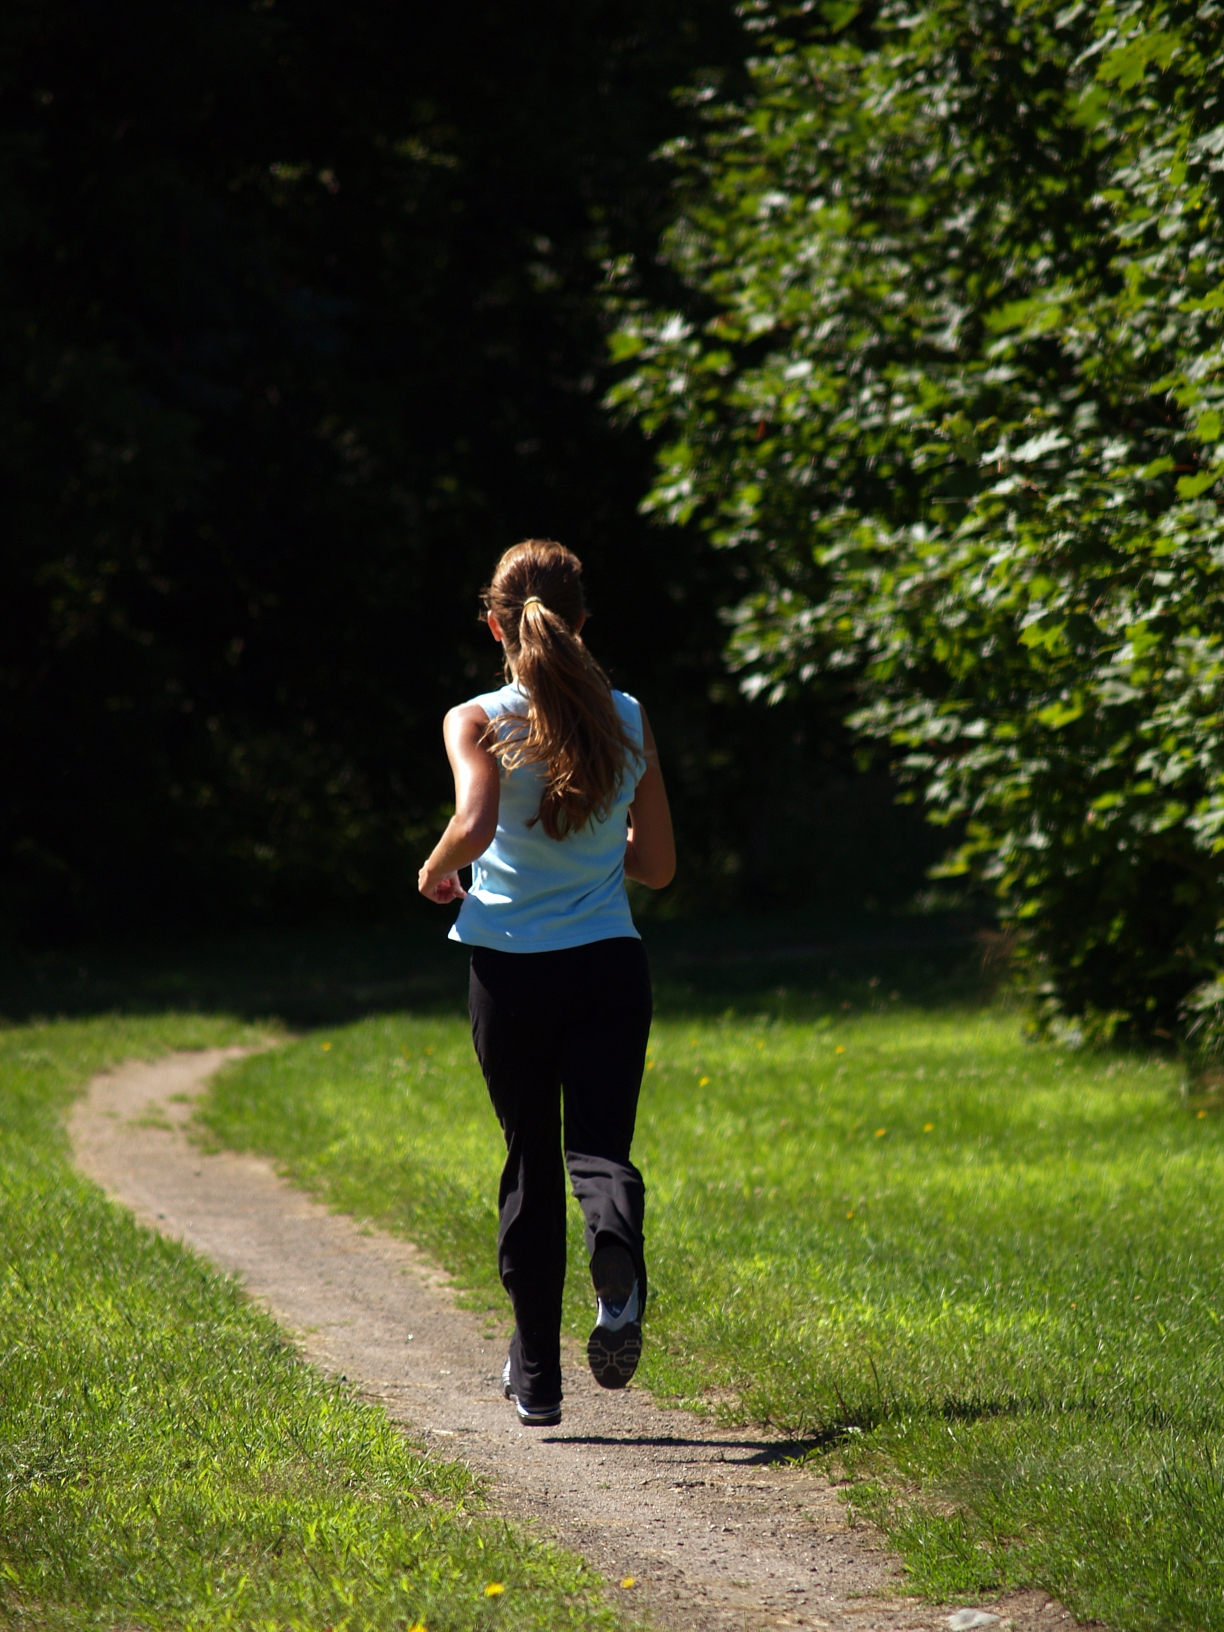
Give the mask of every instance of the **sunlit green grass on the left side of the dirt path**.
[[91, 1072], [255, 1035], [189, 1015], [0, 1030], [0, 1624], [610, 1627], [579, 1560], [481, 1513], [463, 1467], [70, 1167], [62, 1113]]

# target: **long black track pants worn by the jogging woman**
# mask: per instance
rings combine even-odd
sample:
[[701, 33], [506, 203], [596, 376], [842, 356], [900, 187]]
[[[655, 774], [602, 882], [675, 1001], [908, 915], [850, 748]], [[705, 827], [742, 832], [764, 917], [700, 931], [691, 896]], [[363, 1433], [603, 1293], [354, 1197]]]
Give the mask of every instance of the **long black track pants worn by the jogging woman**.
[[498, 1270], [514, 1306], [511, 1381], [521, 1399], [550, 1405], [561, 1397], [566, 1169], [588, 1255], [620, 1242], [646, 1296], [645, 1186], [628, 1159], [651, 1020], [646, 953], [628, 937], [565, 951], [477, 947], [470, 1007], [506, 1134]]

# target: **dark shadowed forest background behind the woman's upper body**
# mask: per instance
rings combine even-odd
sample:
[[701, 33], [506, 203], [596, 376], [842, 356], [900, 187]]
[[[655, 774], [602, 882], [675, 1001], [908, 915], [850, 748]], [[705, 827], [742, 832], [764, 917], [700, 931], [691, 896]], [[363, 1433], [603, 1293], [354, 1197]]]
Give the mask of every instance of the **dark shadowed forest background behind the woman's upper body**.
[[[744, 568], [638, 514], [601, 284], [656, 258], [728, 0], [11, 0], [0, 16], [0, 917], [392, 919], [537, 534], [650, 705], [672, 911], [898, 904], [943, 847], [839, 698], [739, 697]], [[651, 286], [654, 279], [654, 287]]]

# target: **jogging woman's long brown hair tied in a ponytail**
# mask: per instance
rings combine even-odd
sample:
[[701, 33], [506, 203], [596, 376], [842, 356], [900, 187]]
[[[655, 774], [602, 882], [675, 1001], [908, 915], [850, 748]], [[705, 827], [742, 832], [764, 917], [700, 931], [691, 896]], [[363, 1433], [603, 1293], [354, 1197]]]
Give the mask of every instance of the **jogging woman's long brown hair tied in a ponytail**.
[[636, 747], [612, 702], [612, 684], [583, 645], [583, 563], [552, 539], [527, 539], [498, 561], [483, 591], [485, 617], [501, 625], [506, 677], [527, 713], [503, 715], [522, 728], [509, 736], [490, 721], [488, 747], [506, 770], [543, 765], [540, 823], [565, 839], [605, 821]]

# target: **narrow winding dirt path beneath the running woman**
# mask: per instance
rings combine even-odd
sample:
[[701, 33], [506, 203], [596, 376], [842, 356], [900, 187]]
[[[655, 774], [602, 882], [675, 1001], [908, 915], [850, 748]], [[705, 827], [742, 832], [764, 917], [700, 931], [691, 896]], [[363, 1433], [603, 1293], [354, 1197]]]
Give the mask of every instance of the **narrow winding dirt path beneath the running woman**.
[[[501, 1338], [457, 1309], [406, 1242], [310, 1201], [271, 1164], [204, 1155], [183, 1133], [235, 1051], [176, 1054], [96, 1077], [72, 1115], [82, 1169], [165, 1235], [242, 1279], [317, 1364], [380, 1400], [441, 1454], [483, 1474], [509, 1518], [534, 1518], [676, 1632], [942, 1629], [950, 1606], [896, 1598], [899, 1567], [836, 1492], [769, 1435], [607, 1394], [566, 1355], [565, 1423], [522, 1430], [501, 1399]], [[1043, 1594], [992, 1606], [1002, 1632], [1067, 1625]]]

